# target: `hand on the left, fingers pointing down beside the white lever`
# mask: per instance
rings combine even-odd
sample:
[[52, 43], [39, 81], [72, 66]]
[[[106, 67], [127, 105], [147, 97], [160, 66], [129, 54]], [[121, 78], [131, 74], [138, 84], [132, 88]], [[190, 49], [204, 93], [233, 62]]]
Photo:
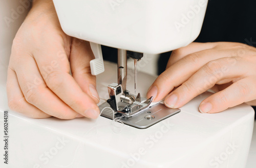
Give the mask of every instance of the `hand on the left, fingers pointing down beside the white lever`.
[[34, 1], [13, 40], [9, 107], [32, 118], [97, 118], [99, 96], [90, 70], [92, 59], [89, 42], [61, 30], [53, 2]]

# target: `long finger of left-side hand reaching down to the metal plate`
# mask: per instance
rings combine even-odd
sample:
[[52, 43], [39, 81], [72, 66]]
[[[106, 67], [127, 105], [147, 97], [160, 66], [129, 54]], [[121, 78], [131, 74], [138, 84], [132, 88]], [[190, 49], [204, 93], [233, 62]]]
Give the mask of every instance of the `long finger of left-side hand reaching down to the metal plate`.
[[[99, 108], [82, 91], [74, 78], [70, 75], [69, 60], [61, 39], [51, 41], [40, 52], [35, 52], [35, 60], [47, 86], [67, 105], [77, 113], [88, 118], [96, 119], [99, 116]], [[54, 47], [52, 47], [54, 46]]]

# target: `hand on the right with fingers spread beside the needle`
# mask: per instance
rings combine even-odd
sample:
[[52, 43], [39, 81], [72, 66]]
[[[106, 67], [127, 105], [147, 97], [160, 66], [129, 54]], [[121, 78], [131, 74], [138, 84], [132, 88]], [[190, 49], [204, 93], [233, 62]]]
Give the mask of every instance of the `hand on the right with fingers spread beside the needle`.
[[[176, 88], [176, 89], [175, 89]], [[256, 105], [256, 48], [242, 43], [191, 43], [172, 52], [166, 70], [147, 93], [179, 108], [207, 91], [201, 113], [218, 113], [243, 102]]]

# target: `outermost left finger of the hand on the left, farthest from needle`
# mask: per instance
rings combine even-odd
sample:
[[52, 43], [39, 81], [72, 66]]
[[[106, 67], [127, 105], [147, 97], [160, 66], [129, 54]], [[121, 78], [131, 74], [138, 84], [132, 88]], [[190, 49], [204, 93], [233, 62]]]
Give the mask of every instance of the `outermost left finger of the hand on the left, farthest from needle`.
[[10, 109], [22, 113], [31, 118], [49, 118], [50, 115], [44, 113], [37, 107], [29, 104], [23, 96], [22, 91], [19, 88], [18, 80], [16, 73], [8, 68], [7, 75], [7, 97], [8, 97], [8, 105]]

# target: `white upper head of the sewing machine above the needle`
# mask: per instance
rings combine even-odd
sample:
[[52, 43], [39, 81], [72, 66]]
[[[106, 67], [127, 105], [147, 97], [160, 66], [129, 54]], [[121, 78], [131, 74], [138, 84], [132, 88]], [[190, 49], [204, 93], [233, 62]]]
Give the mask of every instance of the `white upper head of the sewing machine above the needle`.
[[54, 0], [62, 30], [90, 42], [162, 53], [199, 35], [207, 0]]

